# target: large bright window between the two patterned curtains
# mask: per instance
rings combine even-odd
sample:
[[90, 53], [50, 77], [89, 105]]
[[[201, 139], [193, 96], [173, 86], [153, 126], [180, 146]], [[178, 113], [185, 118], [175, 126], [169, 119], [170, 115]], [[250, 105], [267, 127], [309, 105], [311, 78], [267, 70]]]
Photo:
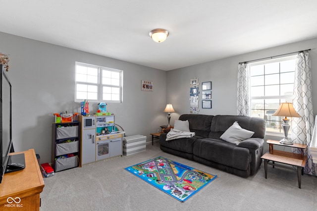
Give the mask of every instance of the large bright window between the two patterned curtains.
[[282, 102], [292, 102], [296, 56], [250, 63], [251, 116], [266, 121], [266, 131], [283, 132], [283, 117], [272, 116]]

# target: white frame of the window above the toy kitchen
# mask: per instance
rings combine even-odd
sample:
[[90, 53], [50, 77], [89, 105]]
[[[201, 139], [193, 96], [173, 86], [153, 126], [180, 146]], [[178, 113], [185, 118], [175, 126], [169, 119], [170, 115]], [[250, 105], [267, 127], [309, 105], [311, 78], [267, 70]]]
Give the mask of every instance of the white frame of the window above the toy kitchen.
[[[97, 68], [98, 69], [98, 81], [97, 83], [88, 83], [88, 82], [79, 82], [76, 79], [76, 67], [77, 65], [79, 66], [84, 66], [84, 67], [92, 67], [92, 68]], [[110, 72], [115, 72], [119, 73], [119, 85], [113, 85], [113, 84], [103, 84], [103, 70], [110, 71]], [[85, 85], [97, 85], [97, 99], [80, 99], [77, 98], [77, 84], [85, 84]], [[119, 100], [109, 100], [109, 99], [104, 99], [103, 98], [103, 89], [104, 87], [111, 87], [111, 88], [119, 88]], [[113, 94], [112, 92], [110, 94]], [[122, 70], [117, 70], [117, 69], [112, 69], [112, 68], [107, 68], [107, 67], [101, 67], [97, 65], [91, 65], [91, 64], [86, 64], [86, 63], [81, 63], [81, 62], [75, 62], [75, 102], [81, 102], [83, 100], [88, 100], [89, 102], [113, 102], [113, 103], [122, 103], [123, 99], [123, 71]]]

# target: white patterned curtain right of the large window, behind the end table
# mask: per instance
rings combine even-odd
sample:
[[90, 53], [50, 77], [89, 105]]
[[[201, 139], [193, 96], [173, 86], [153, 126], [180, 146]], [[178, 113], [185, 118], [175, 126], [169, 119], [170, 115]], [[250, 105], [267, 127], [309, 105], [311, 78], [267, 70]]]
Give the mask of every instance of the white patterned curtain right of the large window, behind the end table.
[[[314, 129], [314, 115], [312, 101], [312, 70], [309, 53], [299, 53], [296, 62], [293, 105], [301, 117], [293, 118], [292, 120], [292, 140], [294, 143], [310, 146]], [[294, 152], [300, 153], [299, 150], [294, 150]], [[316, 175], [317, 164], [313, 163], [310, 150], [307, 150], [306, 155], [307, 164], [304, 172]]]

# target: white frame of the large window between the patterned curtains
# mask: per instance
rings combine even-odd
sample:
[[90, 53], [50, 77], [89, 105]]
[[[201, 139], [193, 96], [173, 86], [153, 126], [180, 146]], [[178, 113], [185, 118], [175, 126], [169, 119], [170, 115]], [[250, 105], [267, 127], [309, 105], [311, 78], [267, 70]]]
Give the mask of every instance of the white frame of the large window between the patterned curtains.
[[[270, 64], [270, 63], [276, 63], [276, 62], [283, 62], [283, 61], [288, 61], [288, 60], [295, 60], [296, 59], [296, 55], [291, 55], [291, 56], [286, 56], [286, 57], [281, 57], [281, 58], [276, 58], [276, 59], [270, 59], [270, 60], [264, 60], [264, 61], [259, 61], [259, 62], [252, 62], [252, 63], [249, 63], [249, 72], [250, 72], [250, 108], [251, 108], [251, 114], [252, 114], [252, 110], [254, 110], [254, 108], [252, 108], [252, 100], [266, 100], [266, 99], [279, 99], [279, 103], [281, 102], [292, 102], [293, 99], [294, 99], [294, 94], [289, 94], [289, 95], [274, 95], [274, 96], [268, 96], [268, 95], [265, 95], [264, 93], [264, 96], [251, 96], [251, 90], [252, 90], [252, 86], [251, 86], [251, 80], [252, 80], [252, 77], [251, 77], [251, 67], [252, 66], [257, 66], [257, 65], [267, 65], [267, 64]], [[296, 64], [295, 64], [296, 65]], [[295, 68], [295, 67], [294, 67]], [[295, 69], [294, 69], [295, 71]], [[279, 74], [281, 74], [281, 72], [279, 72]], [[265, 78], [265, 75], [269, 75], [269, 74], [265, 74], [264, 72], [264, 78]], [[294, 81], [295, 81], [295, 78], [294, 78]], [[279, 82], [279, 85], [281, 83]], [[265, 104], [264, 104], [265, 106]], [[269, 111], [271, 109], [257, 109], [257, 110], [264, 110], [265, 111]], [[278, 121], [276, 122], [279, 122], [281, 124], [281, 120], [283, 119], [283, 117], [278, 117]], [[264, 113], [264, 120], [265, 120], [265, 113]], [[267, 121], [267, 120], [265, 120]], [[269, 122], [272, 122], [271, 120], [269, 120]], [[291, 124], [291, 122], [290, 122]], [[268, 131], [269, 133], [275, 133], [275, 134], [282, 134], [283, 133], [283, 129], [282, 127], [279, 128], [279, 132], [276, 132], [276, 131]]]

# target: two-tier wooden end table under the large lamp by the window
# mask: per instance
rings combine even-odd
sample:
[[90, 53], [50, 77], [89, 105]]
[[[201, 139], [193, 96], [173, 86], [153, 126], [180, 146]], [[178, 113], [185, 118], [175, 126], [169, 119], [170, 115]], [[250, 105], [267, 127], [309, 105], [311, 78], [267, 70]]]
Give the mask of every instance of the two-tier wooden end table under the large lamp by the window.
[[[298, 187], [301, 188], [301, 175], [304, 175], [304, 168], [307, 162], [307, 156], [304, 156], [304, 149], [307, 148], [307, 145], [305, 144], [292, 144], [292, 145], [286, 145], [281, 144], [279, 141], [276, 140], [267, 140], [266, 143], [269, 144], [269, 152], [265, 153], [261, 158], [264, 159], [264, 171], [265, 171], [265, 179], [267, 178], [267, 165], [277, 166], [285, 169], [292, 169], [291, 167], [287, 167], [280, 164], [286, 164], [290, 166], [295, 166], [297, 171], [297, 178], [298, 178]], [[287, 146], [287, 147], [294, 147], [301, 149], [301, 154], [295, 154], [291, 152], [284, 152], [279, 150], [274, 150], [274, 145], [280, 145], [280, 146]], [[271, 164], [269, 162], [272, 162]]]

